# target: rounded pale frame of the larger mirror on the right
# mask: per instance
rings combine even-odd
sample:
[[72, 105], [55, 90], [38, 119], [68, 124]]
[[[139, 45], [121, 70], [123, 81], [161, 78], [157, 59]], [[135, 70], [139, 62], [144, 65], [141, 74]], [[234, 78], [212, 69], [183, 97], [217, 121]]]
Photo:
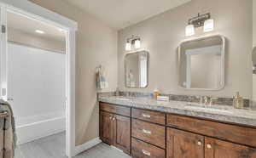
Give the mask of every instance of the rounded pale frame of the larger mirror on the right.
[[[195, 41], [201, 41], [210, 37], [220, 37], [223, 42], [223, 48], [221, 49], [221, 85], [218, 88], [186, 88], [182, 87], [180, 85], [180, 68], [181, 68], [181, 45], [184, 42], [195, 42]], [[184, 40], [179, 43], [178, 48], [177, 48], [177, 82], [178, 82], [178, 87], [185, 89], [185, 90], [202, 90], [202, 91], [219, 91], [225, 87], [225, 50], [226, 50], [226, 43], [225, 43], [225, 37], [222, 35], [211, 35], [211, 36], [204, 36], [204, 37], [195, 37], [195, 38], [189, 38], [187, 40]]]

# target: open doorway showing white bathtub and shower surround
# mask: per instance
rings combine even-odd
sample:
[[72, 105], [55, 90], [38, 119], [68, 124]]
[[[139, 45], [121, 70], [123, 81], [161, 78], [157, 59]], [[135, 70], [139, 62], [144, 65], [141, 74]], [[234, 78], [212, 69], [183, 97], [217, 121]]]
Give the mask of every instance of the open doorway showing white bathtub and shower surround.
[[18, 144], [66, 131], [66, 31], [7, 11], [8, 98]]

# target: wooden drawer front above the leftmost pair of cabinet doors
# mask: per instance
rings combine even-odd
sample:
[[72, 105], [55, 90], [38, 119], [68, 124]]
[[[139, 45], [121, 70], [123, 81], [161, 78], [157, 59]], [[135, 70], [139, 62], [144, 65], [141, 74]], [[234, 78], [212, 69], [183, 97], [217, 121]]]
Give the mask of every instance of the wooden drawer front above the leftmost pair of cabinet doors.
[[119, 106], [115, 104], [108, 103], [100, 103], [100, 110], [108, 111], [114, 114], [119, 114], [121, 116], [129, 116], [131, 117], [131, 108], [127, 108], [124, 106]]

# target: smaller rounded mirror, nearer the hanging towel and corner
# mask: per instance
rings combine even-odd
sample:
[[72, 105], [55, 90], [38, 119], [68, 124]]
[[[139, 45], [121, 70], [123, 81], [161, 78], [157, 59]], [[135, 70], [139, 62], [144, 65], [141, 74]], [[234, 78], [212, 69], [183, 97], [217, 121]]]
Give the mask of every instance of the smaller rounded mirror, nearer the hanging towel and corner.
[[148, 87], [148, 52], [125, 55], [125, 87]]

